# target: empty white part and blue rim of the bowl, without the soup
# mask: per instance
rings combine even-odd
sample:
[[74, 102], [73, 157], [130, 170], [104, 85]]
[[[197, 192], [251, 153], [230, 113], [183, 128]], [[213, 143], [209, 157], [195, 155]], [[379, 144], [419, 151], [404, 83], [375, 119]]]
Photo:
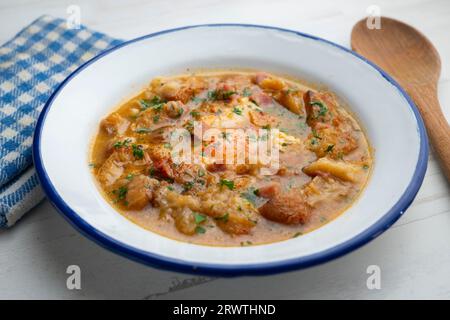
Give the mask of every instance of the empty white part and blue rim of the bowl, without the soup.
[[[326, 84], [348, 102], [375, 149], [360, 199], [331, 223], [294, 239], [251, 247], [209, 247], [144, 230], [100, 195], [88, 168], [99, 120], [159, 75], [198, 68], [253, 68]], [[296, 31], [200, 25], [150, 34], [110, 49], [73, 72], [47, 102], [34, 161], [50, 201], [100, 245], [153, 266], [185, 272], [267, 274], [325, 262], [375, 238], [414, 199], [428, 144], [410, 98], [357, 54]]]

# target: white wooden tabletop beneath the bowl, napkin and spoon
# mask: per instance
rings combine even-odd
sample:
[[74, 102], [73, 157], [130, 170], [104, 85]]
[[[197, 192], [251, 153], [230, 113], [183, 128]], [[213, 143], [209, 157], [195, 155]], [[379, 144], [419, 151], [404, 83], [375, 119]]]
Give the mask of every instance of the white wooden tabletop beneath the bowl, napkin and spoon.
[[[441, 1], [0, 1], [0, 42], [42, 14], [67, 17], [129, 39], [189, 24], [242, 22], [286, 27], [349, 46], [352, 25], [375, 2], [386, 16], [411, 23], [442, 58], [439, 97], [450, 118], [450, 2]], [[66, 288], [79, 265], [81, 290]], [[381, 268], [381, 289], [366, 286], [366, 268]], [[265, 277], [217, 279], [160, 271], [100, 248], [44, 201], [0, 232], [0, 298], [450, 298], [450, 193], [430, 156], [422, 189], [407, 214], [382, 236], [332, 262]]]

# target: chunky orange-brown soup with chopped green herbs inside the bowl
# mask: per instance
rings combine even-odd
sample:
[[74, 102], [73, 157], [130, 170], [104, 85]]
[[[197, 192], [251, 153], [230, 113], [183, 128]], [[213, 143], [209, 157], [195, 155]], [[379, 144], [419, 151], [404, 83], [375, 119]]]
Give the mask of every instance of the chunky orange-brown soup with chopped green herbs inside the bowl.
[[266, 72], [155, 78], [101, 120], [90, 161], [118, 212], [181, 241], [298, 237], [344, 212], [370, 175], [367, 138], [331, 92]]

